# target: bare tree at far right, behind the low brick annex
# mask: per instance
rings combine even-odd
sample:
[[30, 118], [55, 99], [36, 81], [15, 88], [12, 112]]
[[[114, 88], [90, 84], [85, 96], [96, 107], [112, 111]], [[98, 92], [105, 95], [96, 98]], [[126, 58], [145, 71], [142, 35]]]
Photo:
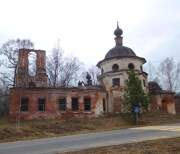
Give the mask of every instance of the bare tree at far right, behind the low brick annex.
[[169, 91], [180, 88], [180, 63], [176, 63], [173, 58], [166, 58], [158, 70], [158, 78], [163, 88]]

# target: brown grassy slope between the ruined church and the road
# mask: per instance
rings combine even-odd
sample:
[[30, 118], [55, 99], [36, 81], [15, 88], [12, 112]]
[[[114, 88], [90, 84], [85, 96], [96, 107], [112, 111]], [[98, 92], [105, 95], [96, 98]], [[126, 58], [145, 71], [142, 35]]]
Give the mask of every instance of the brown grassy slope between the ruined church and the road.
[[[180, 115], [169, 115], [163, 112], [146, 113], [141, 117], [139, 126], [159, 125], [180, 122]], [[6, 118], [0, 119], [0, 142], [26, 140], [44, 137], [88, 133], [135, 127], [128, 115], [116, 115], [83, 119], [67, 118], [60, 120], [33, 120], [22, 121], [20, 129], [16, 123]]]

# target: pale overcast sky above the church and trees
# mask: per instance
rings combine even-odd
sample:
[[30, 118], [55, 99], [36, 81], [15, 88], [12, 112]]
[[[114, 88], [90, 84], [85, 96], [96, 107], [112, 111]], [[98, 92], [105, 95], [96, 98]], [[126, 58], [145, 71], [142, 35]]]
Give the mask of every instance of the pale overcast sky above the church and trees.
[[49, 52], [59, 39], [65, 54], [96, 65], [115, 45], [117, 20], [138, 56], [180, 61], [180, 0], [0, 0], [0, 45], [27, 38]]

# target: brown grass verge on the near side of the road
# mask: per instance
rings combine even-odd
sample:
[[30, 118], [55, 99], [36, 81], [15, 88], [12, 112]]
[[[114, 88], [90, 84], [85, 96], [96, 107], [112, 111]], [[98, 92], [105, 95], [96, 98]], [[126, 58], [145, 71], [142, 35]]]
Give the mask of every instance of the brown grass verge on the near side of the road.
[[180, 138], [121, 144], [64, 154], [180, 154]]

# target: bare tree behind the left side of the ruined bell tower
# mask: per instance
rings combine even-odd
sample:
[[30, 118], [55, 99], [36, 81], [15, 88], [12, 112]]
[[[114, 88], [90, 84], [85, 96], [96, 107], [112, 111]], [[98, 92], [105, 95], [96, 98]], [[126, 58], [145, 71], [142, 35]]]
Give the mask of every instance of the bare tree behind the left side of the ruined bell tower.
[[1, 80], [6, 81], [9, 85], [15, 85], [17, 70], [18, 52], [21, 48], [34, 48], [34, 44], [28, 39], [12, 39], [5, 42], [1, 49]]

